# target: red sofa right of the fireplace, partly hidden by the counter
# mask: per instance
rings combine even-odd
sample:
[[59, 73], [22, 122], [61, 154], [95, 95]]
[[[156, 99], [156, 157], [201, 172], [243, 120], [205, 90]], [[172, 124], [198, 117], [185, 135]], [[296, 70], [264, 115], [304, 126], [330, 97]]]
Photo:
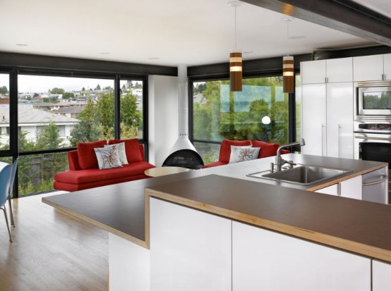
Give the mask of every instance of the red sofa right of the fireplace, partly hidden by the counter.
[[[223, 166], [229, 163], [229, 156], [231, 155], [231, 145], [236, 147], [245, 147], [252, 145], [253, 147], [260, 147], [258, 154], [258, 159], [266, 158], [267, 156], [275, 156], [277, 154], [277, 149], [279, 144], [270, 144], [268, 142], [261, 142], [260, 140], [223, 140], [222, 145], [220, 146], [219, 160], [213, 163], [208, 163], [203, 166], [203, 168], [212, 168], [215, 166]], [[290, 151], [282, 149], [282, 154], [289, 154]]]

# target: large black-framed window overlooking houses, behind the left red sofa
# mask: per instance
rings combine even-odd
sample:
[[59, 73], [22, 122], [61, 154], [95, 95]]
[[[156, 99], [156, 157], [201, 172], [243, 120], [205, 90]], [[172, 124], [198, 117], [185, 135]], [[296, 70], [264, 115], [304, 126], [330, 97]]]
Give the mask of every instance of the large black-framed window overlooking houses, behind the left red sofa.
[[[8, 96], [3, 83], [9, 84], [8, 75], [0, 75], [0, 101]], [[130, 137], [143, 140], [143, 80], [121, 80], [117, 89], [115, 84], [114, 75], [76, 78], [18, 74], [19, 196], [53, 190], [54, 175], [68, 170], [66, 151], [78, 142]], [[4, 130], [1, 128], [1, 147], [9, 149], [10, 104], [4, 103], [0, 107], [6, 107], [2, 115], [7, 122], [3, 123]], [[118, 110], [116, 104], [120, 104]], [[1, 161], [11, 163], [11, 157]]]

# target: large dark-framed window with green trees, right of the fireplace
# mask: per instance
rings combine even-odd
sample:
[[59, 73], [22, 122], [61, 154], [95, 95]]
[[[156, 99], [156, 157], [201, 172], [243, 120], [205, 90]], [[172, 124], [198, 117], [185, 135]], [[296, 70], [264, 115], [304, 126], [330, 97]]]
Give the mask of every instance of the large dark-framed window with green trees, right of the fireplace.
[[205, 163], [217, 160], [218, 145], [202, 141], [289, 142], [289, 95], [282, 76], [243, 79], [242, 92], [229, 80], [193, 82], [193, 140]]

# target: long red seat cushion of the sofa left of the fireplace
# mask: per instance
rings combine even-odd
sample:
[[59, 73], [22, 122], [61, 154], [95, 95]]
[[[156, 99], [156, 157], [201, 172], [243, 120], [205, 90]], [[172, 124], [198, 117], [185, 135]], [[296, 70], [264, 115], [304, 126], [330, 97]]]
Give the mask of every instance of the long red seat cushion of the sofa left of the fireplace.
[[155, 166], [146, 161], [138, 161], [124, 165], [121, 168], [111, 168], [109, 170], [91, 168], [80, 171], [66, 171], [54, 175], [54, 180], [71, 184], [84, 184], [102, 180], [125, 178], [133, 175], [144, 175], [144, 171], [149, 168], [155, 168]]

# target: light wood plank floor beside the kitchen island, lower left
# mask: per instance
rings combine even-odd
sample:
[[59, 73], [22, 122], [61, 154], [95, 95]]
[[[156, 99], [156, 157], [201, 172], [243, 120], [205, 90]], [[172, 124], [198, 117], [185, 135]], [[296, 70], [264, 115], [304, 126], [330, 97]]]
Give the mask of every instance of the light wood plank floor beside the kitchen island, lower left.
[[107, 231], [43, 204], [44, 196], [13, 199], [13, 243], [0, 211], [0, 291], [107, 290]]

